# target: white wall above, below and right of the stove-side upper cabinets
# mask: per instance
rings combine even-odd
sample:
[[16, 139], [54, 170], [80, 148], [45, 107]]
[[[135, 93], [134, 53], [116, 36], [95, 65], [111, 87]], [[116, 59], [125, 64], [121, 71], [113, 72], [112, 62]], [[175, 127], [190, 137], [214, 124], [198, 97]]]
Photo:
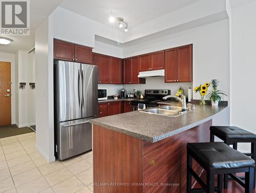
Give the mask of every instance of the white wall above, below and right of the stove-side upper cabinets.
[[[150, 38], [148, 38], [150, 39]], [[129, 43], [131, 45], [131, 42]], [[152, 38], [144, 41], [143, 38], [134, 40], [134, 45], [123, 49], [123, 57], [130, 57], [143, 53], [174, 48], [178, 46], [193, 44], [193, 88], [196, 85], [217, 78], [220, 81], [219, 89], [225, 91], [229, 100], [229, 20], [203, 25], [193, 29], [181, 31], [170, 35]], [[161, 85], [161, 88], [171, 88], [176, 91], [179, 85], [185, 88], [184, 83], [164, 83], [162, 80], [147, 78], [149, 85]], [[156, 81], [156, 82], [155, 82]], [[126, 90], [132, 90], [133, 85], [125, 86]], [[139, 85], [139, 88], [147, 88]], [[185, 89], [187, 90], [187, 89]], [[199, 99], [200, 95], [193, 92], [193, 98]], [[229, 125], [229, 109], [221, 112], [214, 119], [214, 124]]]

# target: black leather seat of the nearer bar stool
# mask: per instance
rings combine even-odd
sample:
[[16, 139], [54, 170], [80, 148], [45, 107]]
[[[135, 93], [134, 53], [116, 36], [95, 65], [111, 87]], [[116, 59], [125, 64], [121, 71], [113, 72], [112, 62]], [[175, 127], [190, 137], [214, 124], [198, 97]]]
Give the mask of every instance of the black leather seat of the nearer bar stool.
[[204, 168], [231, 169], [255, 166], [253, 159], [223, 142], [188, 143], [187, 149]]

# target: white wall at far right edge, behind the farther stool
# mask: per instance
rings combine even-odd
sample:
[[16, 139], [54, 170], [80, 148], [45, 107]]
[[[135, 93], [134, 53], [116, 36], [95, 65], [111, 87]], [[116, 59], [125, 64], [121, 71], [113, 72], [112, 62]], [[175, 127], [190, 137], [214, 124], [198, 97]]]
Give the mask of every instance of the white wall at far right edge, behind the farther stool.
[[[231, 124], [256, 133], [256, 2], [232, 9]], [[249, 151], [249, 145], [239, 145]]]

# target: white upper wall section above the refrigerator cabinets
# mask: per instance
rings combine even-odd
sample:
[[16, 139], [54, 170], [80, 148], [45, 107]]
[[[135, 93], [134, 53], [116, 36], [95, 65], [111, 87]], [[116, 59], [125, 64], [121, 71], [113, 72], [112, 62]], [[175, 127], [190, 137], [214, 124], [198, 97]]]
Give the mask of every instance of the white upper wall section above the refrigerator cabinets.
[[92, 19], [57, 7], [51, 14], [54, 38], [94, 48], [95, 34], [121, 42], [122, 33]]

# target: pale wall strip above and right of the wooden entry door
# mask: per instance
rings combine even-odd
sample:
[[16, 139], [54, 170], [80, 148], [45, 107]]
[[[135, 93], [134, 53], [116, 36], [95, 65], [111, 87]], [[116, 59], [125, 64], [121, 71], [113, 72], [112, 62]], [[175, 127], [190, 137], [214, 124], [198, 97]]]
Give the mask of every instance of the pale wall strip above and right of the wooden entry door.
[[15, 84], [15, 55], [14, 54], [8, 54], [8, 53], [0, 53], [0, 61], [7, 61], [11, 62], [11, 122], [12, 124], [16, 123], [16, 95], [17, 95], [17, 90], [15, 89], [16, 84]]

